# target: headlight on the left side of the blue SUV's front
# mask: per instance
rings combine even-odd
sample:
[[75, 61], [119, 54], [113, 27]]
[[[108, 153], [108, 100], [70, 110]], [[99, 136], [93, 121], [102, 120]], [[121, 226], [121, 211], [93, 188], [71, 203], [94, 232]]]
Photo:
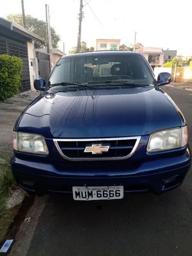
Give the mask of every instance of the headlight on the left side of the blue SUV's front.
[[39, 155], [49, 154], [44, 137], [38, 134], [13, 132], [13, 149]]

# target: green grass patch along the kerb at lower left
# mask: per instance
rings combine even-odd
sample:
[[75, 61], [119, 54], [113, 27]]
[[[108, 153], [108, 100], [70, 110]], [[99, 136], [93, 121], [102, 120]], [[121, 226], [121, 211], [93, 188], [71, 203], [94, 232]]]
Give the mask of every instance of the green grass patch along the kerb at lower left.
[[10, 155], [0, 154], [0, 241], [6, 234], [15, 211], [12, 209], [6, 210], [5, 208], [6, 198], [11, 195], [16, 187], [11, 172], [10, 159]]

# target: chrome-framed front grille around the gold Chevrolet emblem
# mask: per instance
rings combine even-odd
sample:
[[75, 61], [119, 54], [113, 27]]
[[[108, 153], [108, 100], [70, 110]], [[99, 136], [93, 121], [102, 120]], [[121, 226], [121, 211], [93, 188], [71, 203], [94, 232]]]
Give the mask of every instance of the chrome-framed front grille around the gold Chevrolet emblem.
[[[60, 154], [68, 160], [107, 160], [130, 157], [138, 146], [140, 137], [107, 138], [107, 139], [54, 139]], [[100, 154], [84, 152], [93, 145], [109, 146], [108, 151]]]

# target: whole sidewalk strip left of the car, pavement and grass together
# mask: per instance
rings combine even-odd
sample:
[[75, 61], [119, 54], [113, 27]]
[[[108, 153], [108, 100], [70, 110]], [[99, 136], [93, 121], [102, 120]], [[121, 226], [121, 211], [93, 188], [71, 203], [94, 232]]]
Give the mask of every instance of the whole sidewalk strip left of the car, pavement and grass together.
[[15, 97], [7, 101], [0, 101], [0, 242], [19, 210], [20, 205], [15, 205], [20, 204], [25, 197], [25, 194], [15, 187], [10, 170], [9, 158], [12, 155], [13, 125], [23, 109], [25, 109], [38, 94], [37, 92], [29, 91], [15, 95]]

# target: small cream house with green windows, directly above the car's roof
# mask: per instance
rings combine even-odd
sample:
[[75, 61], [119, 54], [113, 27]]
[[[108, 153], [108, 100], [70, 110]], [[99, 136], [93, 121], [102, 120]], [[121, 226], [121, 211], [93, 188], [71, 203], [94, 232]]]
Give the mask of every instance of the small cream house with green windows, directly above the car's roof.
[[97, 39], [96, 51], [118, 51], [120, 39]]

